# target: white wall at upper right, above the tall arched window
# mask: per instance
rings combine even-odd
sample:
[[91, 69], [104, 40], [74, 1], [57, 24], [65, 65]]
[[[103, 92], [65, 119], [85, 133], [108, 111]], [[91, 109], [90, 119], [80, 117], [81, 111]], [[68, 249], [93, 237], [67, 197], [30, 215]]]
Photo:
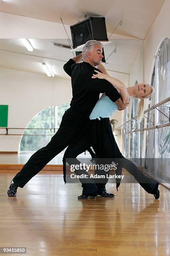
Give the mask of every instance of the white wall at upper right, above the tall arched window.
[[170, 0], [166, 0], [144, 41], [143, 82], [150, 83], [153, 62], [160, 42], [170, 38]]

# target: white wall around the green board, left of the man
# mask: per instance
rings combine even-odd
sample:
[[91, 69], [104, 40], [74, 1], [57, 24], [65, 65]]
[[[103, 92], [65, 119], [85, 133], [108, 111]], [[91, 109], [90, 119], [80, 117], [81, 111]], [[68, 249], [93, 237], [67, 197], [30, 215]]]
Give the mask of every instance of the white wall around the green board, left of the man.
[[[9, 105], [10, 128], [25, 128], [40, 111], [71, 98], [70, 80], [0, 67], [0, 105]], [[20, 136], [0, 136], [0, 151], [18, 151], [19, 143]]]

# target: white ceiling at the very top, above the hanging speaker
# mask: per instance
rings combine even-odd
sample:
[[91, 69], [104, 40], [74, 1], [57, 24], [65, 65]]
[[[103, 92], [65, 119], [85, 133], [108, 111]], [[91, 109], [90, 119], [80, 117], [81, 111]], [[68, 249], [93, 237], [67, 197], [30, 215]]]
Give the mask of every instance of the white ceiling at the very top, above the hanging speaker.
[[84, 14], [106, 18], [107, 32], [144, 39], [165, 0], [1, 0], [0, 11], [73, 25]]

